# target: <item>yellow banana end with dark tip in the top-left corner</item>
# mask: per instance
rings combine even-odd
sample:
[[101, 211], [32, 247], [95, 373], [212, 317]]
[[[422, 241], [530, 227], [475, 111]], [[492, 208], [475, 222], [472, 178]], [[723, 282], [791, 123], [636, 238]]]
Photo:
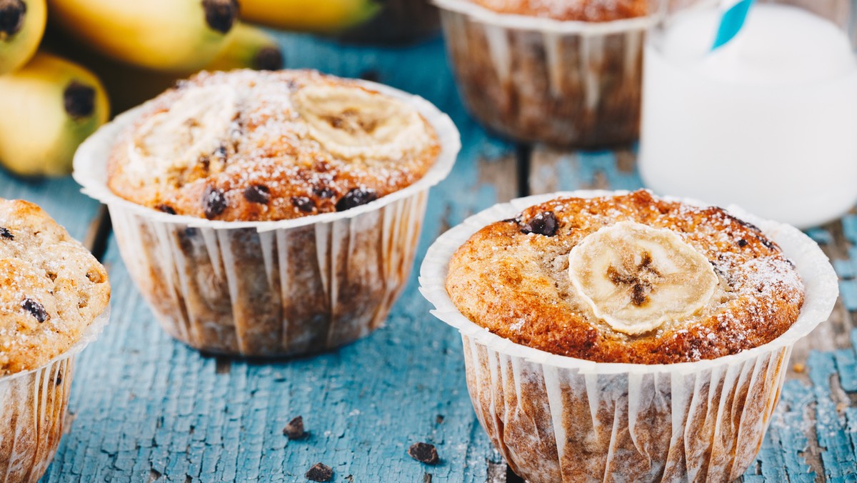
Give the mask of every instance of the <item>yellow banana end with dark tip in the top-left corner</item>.
[[0, 0], [0, 75], [21, 69], [45, 33], [45, 0]]

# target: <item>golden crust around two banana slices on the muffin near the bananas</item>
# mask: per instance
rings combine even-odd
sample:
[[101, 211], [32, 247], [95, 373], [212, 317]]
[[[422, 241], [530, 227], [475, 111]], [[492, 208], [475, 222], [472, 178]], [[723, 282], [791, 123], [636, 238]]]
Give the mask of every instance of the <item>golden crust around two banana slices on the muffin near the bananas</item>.
[[[423, 118], [428, 136], [424, 148], [387, 157], [332, 153], [309, 136], [294, 106], [297, 93], [315, 86], [358, 88], [355, 82], [309, 70], [203, 72], [180, 82], [152, 100], [120, 137], [111, 153], [108, 184], [118, 196], [167, 213], [288, 220], [347, 209], [355, 204], [348, 202], [349, 196], [357, 196], [357, 204], [386, 196], [413, 184], [434, 164], [440, 144]], [[142, 179], [129, 154], [142, 126], [201, 88], [227, 88], [236, 95], [230, 129], [189, 166], [171, 166], [170, 172]], [[365, 193], [369, 195], [361, 196]]]

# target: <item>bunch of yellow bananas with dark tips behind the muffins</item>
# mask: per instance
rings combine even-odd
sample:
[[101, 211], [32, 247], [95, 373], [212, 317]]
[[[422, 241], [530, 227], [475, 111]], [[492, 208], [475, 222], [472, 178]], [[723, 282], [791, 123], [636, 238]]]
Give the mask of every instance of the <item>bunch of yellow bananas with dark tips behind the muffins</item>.
[[[241, 0], [269, 26], [335, 31], [374, 0]], [[243, 13], [242, 12], [242, 13]], [[237, 0], [0, 0], [0, 164], [60, 176], [113, 112], [200, 69], [279, 69], [271, 35]], [[108, 100], [109, 99], [109, 100]]]

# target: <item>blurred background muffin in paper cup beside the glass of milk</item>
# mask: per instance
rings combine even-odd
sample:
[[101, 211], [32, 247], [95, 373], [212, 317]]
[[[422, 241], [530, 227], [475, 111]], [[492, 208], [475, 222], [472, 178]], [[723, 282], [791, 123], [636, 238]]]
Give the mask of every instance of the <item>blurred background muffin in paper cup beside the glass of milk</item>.
[[434, 0], [464, 102], [522, 142], [596, 148], [639, 133], [645, 0]]

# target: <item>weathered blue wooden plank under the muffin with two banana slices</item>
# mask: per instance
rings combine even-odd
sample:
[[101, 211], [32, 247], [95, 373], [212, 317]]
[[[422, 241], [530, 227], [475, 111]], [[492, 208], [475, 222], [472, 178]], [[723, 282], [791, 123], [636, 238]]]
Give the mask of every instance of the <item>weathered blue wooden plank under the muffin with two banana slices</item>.
[[[374, 77], [423, 95], [458, 124], [464, 149], [450, 178], [431, 192], [417, 264], [446, 226], [515, 196], [513, 149], [467, 118], [439, 40], [380, 50], [282, 39], [290, 67]], [[501, 462], [466, 392], [460, 337], [428, 314], [416, 272], [375, 335], [314, 358], [260, 364], [204, 357], [171, 340], [112, 241], [105, 263], [113, 317], [81, 355], [69, 403], [74, 421], [46, 481], [300, 481], [324, 462], [336, 481], [430, 474], [432, 481], [482, 482]], [[289, 441], [282, 429], [299, 414], [310, 436]], [[437, 446], [440, 465], [405, 454], [417, 441]]]

